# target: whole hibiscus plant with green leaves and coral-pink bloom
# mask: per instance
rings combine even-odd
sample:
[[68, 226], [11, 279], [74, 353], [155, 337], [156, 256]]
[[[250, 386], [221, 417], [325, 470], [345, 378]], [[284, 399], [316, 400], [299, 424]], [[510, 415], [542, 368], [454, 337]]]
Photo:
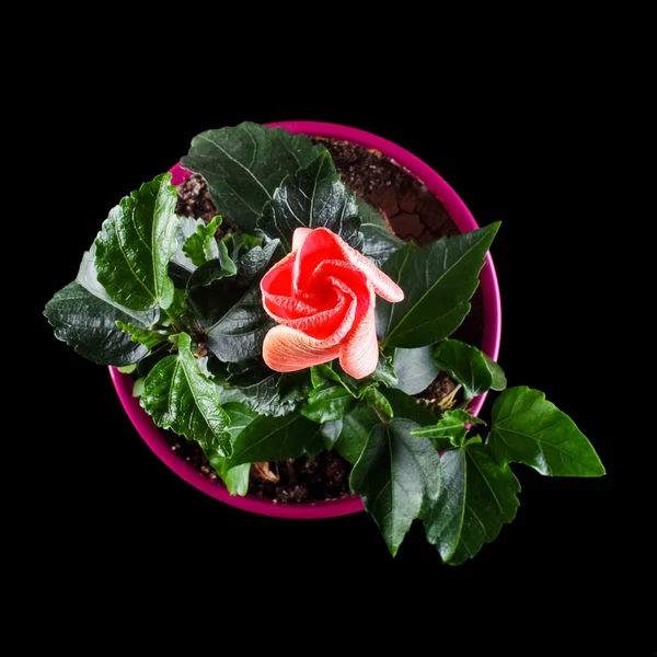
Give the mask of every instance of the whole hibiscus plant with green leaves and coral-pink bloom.
[[[450, 337], [499, 224], [405, 243], [321, 143], [280, 128], [204, 132], [182, 163], [220, 216], [177, 217], [171, 174], [145, 183], [45, 314], [87, 358], [132, 372], [153, 422], [198, 442], [231, 494], [252, 463], [337, 450], [393, 555], [419, 519], [460, 564], [514, 519], [511, 462], [604, 474], [542, 392], [505, 390], [496, 362]], [[440, 371], [462, 396], [418, 404]], [[491, 389], [486, 427], [469, 408]]]

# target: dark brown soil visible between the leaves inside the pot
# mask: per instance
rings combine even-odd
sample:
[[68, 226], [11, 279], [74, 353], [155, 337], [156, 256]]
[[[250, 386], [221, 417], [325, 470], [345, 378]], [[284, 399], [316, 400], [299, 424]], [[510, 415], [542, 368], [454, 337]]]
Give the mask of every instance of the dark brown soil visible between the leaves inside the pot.
[[[406, 170], [378, 151], [345, 141], [321, 141], [331, 152], [347, 186], [382, 212], [400, 238], [424, 245], [442, 237], [458, 234], [459, 230], [442, 204]], [[193, 175], [180, 185], [177, 195], [176, 211], [180, 215], [208, 222], [217, 214], [207, 183], [199, 175]], [[483, 298], [477, 289], [472, 299], [472, 311], [454, 336], [470, 344], [481, 344], [482, 324]], [[435, 404], [449, 395], [454, 387], [454, 382], [441, 373], [426, 391], [416, 396], [419, 403]], [[172, 431], [164, 431], [164, 436], [171, 449], [181, 458], [209, 479], [217, 479], [196, 442]], [[266, 481], [252, 468], [249, 493], [272, 499], [274, 504], [311, 503], [350, 496], [348, 480], [351, 465], [335, 451], [272, 462], [268, 468], [269, 479], [278, 481]]]

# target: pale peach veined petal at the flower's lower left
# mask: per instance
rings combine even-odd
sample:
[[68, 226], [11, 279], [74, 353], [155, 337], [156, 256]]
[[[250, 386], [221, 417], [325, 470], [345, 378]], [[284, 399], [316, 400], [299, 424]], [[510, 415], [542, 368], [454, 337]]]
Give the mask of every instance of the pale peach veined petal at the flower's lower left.
[[310, 337], [289, 326], [274, 326], [263, 344], [263, 358], [277, 372], [295, 372], [322, 365], [337, 358], [339, 354], [339, 345], [327, 345], [326, 341]]

